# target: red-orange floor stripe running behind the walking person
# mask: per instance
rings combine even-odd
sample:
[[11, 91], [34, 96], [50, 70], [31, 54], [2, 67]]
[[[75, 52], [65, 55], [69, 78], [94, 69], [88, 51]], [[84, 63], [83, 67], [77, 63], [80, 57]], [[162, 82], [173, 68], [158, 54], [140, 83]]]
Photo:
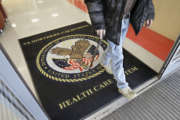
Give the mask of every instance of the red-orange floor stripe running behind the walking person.
[[[77, 6], [84, 12], [88, 11], [83, 0], [68, 1], [73, 3], [75, 6]], [[135, 36], [134, 31], [130, 26], [127, 37], [163, 61], [166, 60], [174, 44], [173, 40], [170, 40], [147, 28], [143, 28], [140, 34], [138, 36]]]

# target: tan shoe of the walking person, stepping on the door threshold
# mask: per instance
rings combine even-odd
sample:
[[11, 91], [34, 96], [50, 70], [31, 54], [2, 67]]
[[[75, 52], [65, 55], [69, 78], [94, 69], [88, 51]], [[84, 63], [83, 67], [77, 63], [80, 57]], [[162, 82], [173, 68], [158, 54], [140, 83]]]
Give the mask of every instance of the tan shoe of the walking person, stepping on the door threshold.
[[131, 100], [137, 96], [137, 94], [130, 87], [125, 87], [123, 89], [119, 88], [118, 92], [121, 93], [128, 100]]

